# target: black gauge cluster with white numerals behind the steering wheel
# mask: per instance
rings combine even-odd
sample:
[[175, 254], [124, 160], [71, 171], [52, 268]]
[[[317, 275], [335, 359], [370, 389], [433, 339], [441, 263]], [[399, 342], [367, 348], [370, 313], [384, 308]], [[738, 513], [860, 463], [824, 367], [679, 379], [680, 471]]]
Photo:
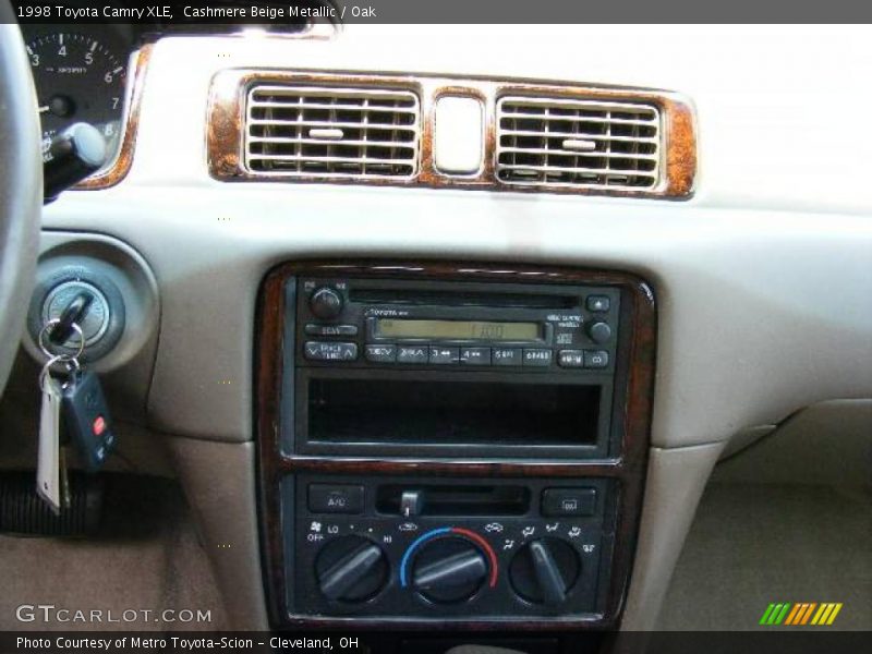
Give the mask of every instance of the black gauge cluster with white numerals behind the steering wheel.
[[31, 25], [25, 49], [36, 84], [43, 152], [73, 123], [106, 138], [111, 164], [121, 146], [131, 56], [138, 38], [124, 25]]

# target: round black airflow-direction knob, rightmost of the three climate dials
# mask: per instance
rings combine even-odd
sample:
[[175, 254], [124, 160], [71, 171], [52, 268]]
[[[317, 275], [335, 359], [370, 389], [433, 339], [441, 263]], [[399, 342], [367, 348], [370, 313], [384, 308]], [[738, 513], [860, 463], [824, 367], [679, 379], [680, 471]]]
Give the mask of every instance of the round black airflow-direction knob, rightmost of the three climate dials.
[[509, 580], [532, 604], [556, 607], [576, 584], [581, 564], [572, 546], [559, 538], [541, 538], [522, 547], [509, 565]]

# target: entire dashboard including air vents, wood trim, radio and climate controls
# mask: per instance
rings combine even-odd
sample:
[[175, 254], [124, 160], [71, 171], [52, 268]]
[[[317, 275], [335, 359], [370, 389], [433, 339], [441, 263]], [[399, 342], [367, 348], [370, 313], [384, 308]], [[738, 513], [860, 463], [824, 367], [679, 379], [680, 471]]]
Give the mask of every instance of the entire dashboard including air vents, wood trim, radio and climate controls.
[[95, 290], [234, 628], [653, 629], [724, 452], [872, 397], [848, 32], [27, 26], [44, 140], [110, 156], [7, 393]]

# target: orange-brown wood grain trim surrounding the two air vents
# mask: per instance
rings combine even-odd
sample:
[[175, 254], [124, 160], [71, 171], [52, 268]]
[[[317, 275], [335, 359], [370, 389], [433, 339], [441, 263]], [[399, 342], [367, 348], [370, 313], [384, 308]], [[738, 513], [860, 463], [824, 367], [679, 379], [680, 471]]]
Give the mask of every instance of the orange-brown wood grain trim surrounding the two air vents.
[[[245, 95], [255, 83], [312, 84], [352, 88], [396, 88], [419, 94], [422, 141], [419, 174], [409, 180], [348, 180], [324, 177], [287, 177], [251, 173], [243, 165]], [[434, 168], [434, 105], [444, 95], [480, 99], [485, 108], [484, 166], [477, 174], [448, 175]], [[573, 189], [564, 186], [517, 186], [496, 179], [496, 100], [504, 95], [565, 97], [622, 102], [650, 102], [662, 116], [664, 147], [661, 179], [653, 189]], [[434, 189], [485, 189], [522, 193], [566, 193], [625, 197], [687, 199], [693, 194], [697, 175], [697, 128], [693, 108], [682, 96], [664, 90], [609, 86], [579, 86], [558, 82], [529, 83], [514, 80], [455, 78], [427, 75], [371, 75], [320, 71], [231, 69], [217, 73], [209, 93], [206, 119], [206, 153], [209, 174], [220, 181], [274, 181], [429, 186]]]

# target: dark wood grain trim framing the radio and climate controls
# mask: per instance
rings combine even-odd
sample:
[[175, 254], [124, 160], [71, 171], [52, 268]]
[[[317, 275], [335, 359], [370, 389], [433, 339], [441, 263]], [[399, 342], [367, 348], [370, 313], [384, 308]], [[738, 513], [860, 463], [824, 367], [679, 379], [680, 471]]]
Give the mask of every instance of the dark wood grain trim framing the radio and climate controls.
[[[390, 271], [386, 271], [386, 268]], [[535, 272], [535, 276], [531, 275]], [[445, 460], [379, 460], [360, 458], [286, 456], [280, 448], [280, 411], [284, 348], [283, 324], [284, 284], [289, 277], [367, 276], [401, 277], [404, 279], [439, 279], [460, 281], [535, 281], [592, 286], [615, 286], [625, 290], [629, 302], [629, 319], [623, 314], [622, 332], [629, 330], [626, 366], [627, 392], [617, 410], [623, 419], [621, 456], [600, 461], [445, 461]], [[533, 279], [531, 279], [533, 277]], [[287, 474], [322, 472], [325, 474], [431, 474], [469, 477], [493, 476], [602, 476], [619, 481], [619, 511], [616, 529], [613, 576], [608, 589], [606, 611], [591, 620], [536, 619], [525, 623], [512, 622], [519, 630], [567, 630], [614, 628], [619, 622], [635, 553], [639, 518], [642, 510], [645, 470], [650, 444], [651, 414], [654, 391], [656, 351], [656, 307], [651, 288], [641, 279], [623, 274], [601, 270], [534, 268], [517, 265], [479, 265], [447, 263], [391, 262], [324, 262], [287, 264], [266, 278], [258, 299], [256, 367], [256, 434], [258, 483], [261, 498], [262, 546], [267, 600], [275, 626], [295, 627], [366, 627], [397, 628], [397, 621], [354, 619], [288, 619], [284, 589], [284, 550], [280, 514], [279, 484]], [[618, 377], [620, 378], [620, 377]], [[493, 621], [468, 620], [452, 622], [452, 628], [494, 628]], [[426, 625], [420, 625], [426, 628]], [[403, 629], [415, 628], [403, 623]]]

